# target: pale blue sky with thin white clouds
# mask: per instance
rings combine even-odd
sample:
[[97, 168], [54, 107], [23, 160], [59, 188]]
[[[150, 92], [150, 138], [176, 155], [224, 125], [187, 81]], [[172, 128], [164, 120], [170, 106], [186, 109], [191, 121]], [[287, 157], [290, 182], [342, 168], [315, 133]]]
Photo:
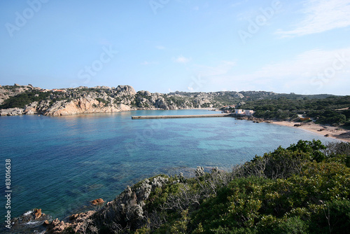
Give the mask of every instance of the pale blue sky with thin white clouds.
[[0, 84], [350, 95], [350, 0], [0, 2]]

